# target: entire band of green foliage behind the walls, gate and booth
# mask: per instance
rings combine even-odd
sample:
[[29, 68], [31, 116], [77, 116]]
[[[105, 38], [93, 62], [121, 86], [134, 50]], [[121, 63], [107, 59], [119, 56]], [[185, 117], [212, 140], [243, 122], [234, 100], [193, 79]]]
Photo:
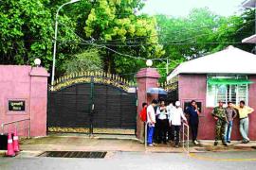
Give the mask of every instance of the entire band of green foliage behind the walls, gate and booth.
[[[65, 2], [0, 1], [0, 63], [31, 64], [40, 58], [50, 70], [55, 14]], [[82, 68], [103, 69], [133, 79], [145, 67], [145, 60], [130, 55], [164, 59], [154, 60], [164, 81], [165, 59], [171, 61], [171, 72], [180, 62], [222, 50], [229, 44], [249, 52], [253, 49], [253, 44], [240, 42], [254, 34], [255, 10], [222, 17], [208, 8], [197, 8], [186, 18], [174, 18], [138, 15], [137, 10], [143, 6], [142, 0], [81, 0], [64, 6], [59, 15], [56, 76], [71, 72], [67, 71], [67, 63], [75, 70], [79, 69], [76, 61], [84, 64], [96, 59], [102, 65]], [[90, 55], [93, 59], [85, 57]]]

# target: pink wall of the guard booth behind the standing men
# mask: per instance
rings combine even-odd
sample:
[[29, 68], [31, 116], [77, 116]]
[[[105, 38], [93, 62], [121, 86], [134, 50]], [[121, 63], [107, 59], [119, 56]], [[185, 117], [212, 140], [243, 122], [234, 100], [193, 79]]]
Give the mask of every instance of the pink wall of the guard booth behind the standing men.
[[[256, 76], [248, 76], [251, 81], [256, 82]], [[210, 115], [212, 108], [206, 107], [207, 76], [206, 75], [179, 75], [178, 76], [179, 100], [184, 105], [185, 101], [202, 102], [202, 115], [200, 116], [198, 139], [213, 140], [215, 122]], [[256, 110], [256, 83], [249, 85], [248, 105]], [[256, 140], [256, 113], [249, 115], [249, 138]], [[232, 128], [231, 140], [241, 140], [239, 133], [239, 120], [235, 119]]]

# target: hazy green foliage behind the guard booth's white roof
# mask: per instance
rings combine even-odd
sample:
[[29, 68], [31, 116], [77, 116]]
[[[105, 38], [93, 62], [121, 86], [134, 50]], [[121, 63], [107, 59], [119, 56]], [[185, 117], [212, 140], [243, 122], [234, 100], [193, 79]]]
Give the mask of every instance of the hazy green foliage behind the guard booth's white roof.
[[[171, 60], [170, 71], [187, 59], [195, 59], [223, 50], [229, 45], [251, 51], [250, 44], [242, 40], [254, 32], [254, 10], [246, 10], [241, 16], [223, 17], [212, 13], [208, 8], [193, 9], [186, 18], [156, 16], [159, 26], [159, 42], [164, 44], [165, 55]], [[157, 62], [164, 81], [165, 63]]]

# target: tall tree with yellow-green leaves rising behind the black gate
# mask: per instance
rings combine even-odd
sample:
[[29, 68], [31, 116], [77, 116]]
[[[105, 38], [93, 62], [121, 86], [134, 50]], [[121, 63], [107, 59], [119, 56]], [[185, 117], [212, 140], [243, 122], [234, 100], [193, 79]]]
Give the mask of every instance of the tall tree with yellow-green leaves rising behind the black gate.
[[[104, 56], [104, 70], [109, 73], [137, 71], [141, 61], [121, 57], [119, 53], [142, 58], [159, 58], [164, 54], [158, 43], [155, 18], [137, 16], [135, 10], [143, 7], [140, 0], [94, 1], [86, 19], [84, 31], [87, 38], [111, 48]], [[99, 41], [100, 40], [100, 41]]]

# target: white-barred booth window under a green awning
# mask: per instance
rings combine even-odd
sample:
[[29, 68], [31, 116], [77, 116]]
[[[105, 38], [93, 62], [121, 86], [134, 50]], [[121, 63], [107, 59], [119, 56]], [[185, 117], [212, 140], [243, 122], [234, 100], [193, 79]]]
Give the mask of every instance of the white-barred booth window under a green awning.
[[252, 82], [247, 76], [208, 76], [207, 107], [215, 107], [219, 100], [238, 105], [241, 100], [247, 103], [248, 84]]

